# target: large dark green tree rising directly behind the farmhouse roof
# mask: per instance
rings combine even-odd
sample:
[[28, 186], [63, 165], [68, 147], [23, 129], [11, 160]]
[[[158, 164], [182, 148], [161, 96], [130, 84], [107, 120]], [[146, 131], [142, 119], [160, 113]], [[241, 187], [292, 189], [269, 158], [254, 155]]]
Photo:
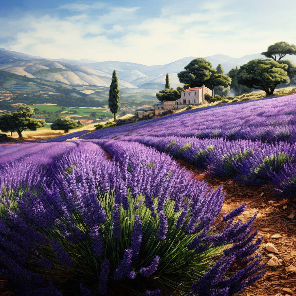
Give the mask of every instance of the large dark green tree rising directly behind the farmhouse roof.
[[231, 83], [229, 76], [218, 73], [217, 70], [213, 69], [212, 63], [202, 57], [193, 59], [184, 69], [184, 71], [178, 73], [180, 83], [185, 83], [184, 89], [204, 84], [209, 89], [212, 89], [214, 95], [215, 86], [227, 87]]

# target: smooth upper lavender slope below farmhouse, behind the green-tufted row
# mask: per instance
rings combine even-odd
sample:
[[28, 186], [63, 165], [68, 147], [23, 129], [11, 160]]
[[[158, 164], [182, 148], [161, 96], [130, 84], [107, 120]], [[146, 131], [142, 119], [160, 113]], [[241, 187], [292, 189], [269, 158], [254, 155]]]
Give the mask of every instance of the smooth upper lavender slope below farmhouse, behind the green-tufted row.
[[94, 131], [83, 139], [115, 136], [197, 136], [198, 138], [249, 139], [274, 143], [296, 141], [296, 95], [214, 108], [194, 109], [162, 118]]

